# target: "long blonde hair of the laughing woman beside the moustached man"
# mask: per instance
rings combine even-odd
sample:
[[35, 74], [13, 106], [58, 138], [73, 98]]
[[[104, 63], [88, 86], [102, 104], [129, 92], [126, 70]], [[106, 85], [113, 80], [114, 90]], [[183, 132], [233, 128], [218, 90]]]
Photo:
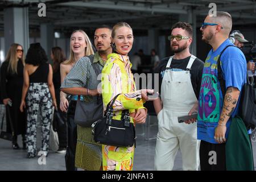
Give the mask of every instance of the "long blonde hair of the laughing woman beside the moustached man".
[[[75, 34], [76, 32], [81, 32], [82, 35], [84, 35], [84, 39], [85, 39], [85, 43], [86, 43], [86, 47], [85, 47], [85, 51], [84, 51], [84, 56], [89, 56], [89, 55], [93, 55], [94, 52], [93, 52], [93, 48], [92, 48], [92, 43], [90, 43], [90, 39], [88, 37], [88, 35], [82, 31], [82, 30], [75, 30], [72, 32], [71, 34], [71, 38], [72, 38], [72, 35]], [[69, 58], [67, 61], [63, 62], [62, 64], [72, 64], [74, 63], [76, 60], [75, 60], [75, 56], [74, 56], [74, 53], [72, 51], [72, 47], [70, 46], [70, 49], [69, 49]]]

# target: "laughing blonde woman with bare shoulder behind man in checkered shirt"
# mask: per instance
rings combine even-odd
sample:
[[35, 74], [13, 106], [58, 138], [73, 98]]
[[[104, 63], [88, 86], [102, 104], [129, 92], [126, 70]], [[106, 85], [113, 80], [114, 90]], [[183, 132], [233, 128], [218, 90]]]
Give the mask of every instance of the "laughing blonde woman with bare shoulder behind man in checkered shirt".
[[[84, 31], [73, 31], [70, 39], [69, 52], [69, 59], [60, 64], [61, 84], [63, 83], [64, 78], [68, 75], [73, 66], [77, 63], [79, 59], [81, 59], [81, 57], [89, 56], [94, 53], [88, 35], [86, 35]], [[71, 95], [71, 99], [68, 102], [67, 94], [60, 91], [60, 109], [67, 112], [68, 147], [65, 155], [65, 164], [67, 171], [74, 171], [77, 169], [75, 167], [77, 126], [74, 122], [77, 98], [77, 95]], [[82, 96], [80, 97], [80, 100], [84, 100]]]

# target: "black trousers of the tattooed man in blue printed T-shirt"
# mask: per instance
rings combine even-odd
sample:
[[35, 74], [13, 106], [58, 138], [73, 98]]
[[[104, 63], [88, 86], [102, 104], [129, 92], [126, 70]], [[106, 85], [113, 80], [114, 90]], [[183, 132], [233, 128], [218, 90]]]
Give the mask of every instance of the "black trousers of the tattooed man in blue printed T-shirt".
[[226, 171], [225, 143], [214, 144], [201, 140], [200, 168], [201, 171]]

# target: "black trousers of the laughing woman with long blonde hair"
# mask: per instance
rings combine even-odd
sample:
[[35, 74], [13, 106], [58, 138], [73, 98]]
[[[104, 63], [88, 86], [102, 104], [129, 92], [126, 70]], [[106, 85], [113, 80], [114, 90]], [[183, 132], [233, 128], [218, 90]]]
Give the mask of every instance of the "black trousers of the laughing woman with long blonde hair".
[[77, 126], [74, 122], [76, 110], [76, 101], [70, 101], [67, 112], [68, 124], [68, 147], [65, 155], [65, 163], [67, 171], [75, 171], [75, 156], [76, 156], [76, 141], [77, 141]]

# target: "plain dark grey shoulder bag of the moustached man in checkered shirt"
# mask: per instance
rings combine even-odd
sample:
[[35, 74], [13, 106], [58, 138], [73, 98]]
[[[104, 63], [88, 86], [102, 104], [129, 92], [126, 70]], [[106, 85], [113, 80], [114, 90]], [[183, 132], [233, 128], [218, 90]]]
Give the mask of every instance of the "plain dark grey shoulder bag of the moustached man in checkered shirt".
[[[88, 56], [90, 63], [96, 72], [96, 75], [100, 75], [100, 67], [96, 63], [93, 63], [93, 55]], [[79, 99], [76, 102], [75, 118], [74, 122], [82, 127], [91, 127], [92, 123], [101, 119], [103, 116], [103, 101], [102, 96], [97, 96], [95, 102], [82, 102]]]

